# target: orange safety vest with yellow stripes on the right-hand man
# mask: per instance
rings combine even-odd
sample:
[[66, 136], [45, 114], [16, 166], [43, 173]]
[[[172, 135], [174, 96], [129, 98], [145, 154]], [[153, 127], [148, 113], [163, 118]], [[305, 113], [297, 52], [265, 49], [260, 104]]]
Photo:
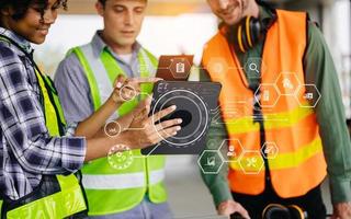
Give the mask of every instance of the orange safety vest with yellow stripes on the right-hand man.
[[[307, 14], [276, 10], [267, 33], [261, 66], [260, 105], [268, 165], [274, 191], [283, 198], [305, 195], [326, 176], [326, 162], [316, 114], [306, 99], [303, 56]], [[258, 195], [264, 191], [260, 125], [253, 122], [254, 92], [226, 37], [218, 32], [205, 46], [203, 66], [220, 82], [219, 104], [229, 146], [228, 178], [233, 192]], [[308, 84], [307, 84], [308, 85]], [[265, 97], [264, 97], [265, 96]], [[275, 152], [274, 152], [275, 151]], [[270, 155], [271, 154], [271, 155]]]

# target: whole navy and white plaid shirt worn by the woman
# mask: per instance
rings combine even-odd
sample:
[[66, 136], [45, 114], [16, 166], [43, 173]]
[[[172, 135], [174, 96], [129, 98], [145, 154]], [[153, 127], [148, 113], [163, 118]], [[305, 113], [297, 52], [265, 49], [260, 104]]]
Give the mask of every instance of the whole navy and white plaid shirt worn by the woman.
[[[0, 34], [32, 54], [13, 32], [0, 27]], [[44, 174], [69, 174], [83, 164], [84, 138], [50, 137], [39, 96], [29, 58], [0, 41], [0, 192], [11, 199], [33, 192]], [[68, 136], [73, 129], [67, 128]]]

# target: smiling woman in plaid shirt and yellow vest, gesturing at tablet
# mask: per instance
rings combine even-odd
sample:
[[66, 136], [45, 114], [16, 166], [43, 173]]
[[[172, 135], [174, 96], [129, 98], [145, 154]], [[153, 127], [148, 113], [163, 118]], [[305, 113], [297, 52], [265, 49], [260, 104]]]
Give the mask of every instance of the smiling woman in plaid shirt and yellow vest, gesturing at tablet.
[[[122, 125], [120, 135], [107, 137], [102, 128], [104, 122], [125, 100], [134, 96], [134, 92], [122, 88], [133, 87], [138, 91], [141, 82], [156, 80], [123, 77], [116, 79], [113, 93], [98, 112], [67, 127], [57, 91], [35, 65], [31, 47], [31, 43], [44, 43], [61, 7], [67, 7], [66, 0], [0, 0], [2, 218], [81, 215], [87, 204], [77, 173], [84, 162], [106, 157], [115, 145], [140, 149], [174, 136], [180, 129], [179, 119], [173, 119], [136, 131], [135, 127], [154, 126], [152, 120], [176, 108], [171, 106], [148, 117], [150, 99], [147, 99], [117, 119]], [[129, 126], [134, 129], [125, 130]]]

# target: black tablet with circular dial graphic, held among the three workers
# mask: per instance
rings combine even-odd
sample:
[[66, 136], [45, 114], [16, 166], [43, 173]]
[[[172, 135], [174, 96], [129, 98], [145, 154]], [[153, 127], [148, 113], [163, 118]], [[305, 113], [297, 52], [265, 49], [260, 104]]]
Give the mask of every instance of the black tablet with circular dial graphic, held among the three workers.
[[158, 81], [154, 87], [150, 115], [177, 105], [177, 110], [162, 120], [182, 118], [182, 129], [177, 136], [143, 149], [141, 153], [199, 154], [203, 151], [213, 116], [211, 112], [217, 107], [220, 88], [216, 82]]

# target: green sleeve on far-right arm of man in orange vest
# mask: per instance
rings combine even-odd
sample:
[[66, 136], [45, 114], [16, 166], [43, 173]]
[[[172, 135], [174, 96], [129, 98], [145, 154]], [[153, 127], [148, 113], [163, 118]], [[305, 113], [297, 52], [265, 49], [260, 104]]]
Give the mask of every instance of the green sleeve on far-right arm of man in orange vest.
[[[351, 143], [335, 64], [319, 30], [308, 25], [308, 49], [304, 59], [306, 83], [315, 84], [320, 99], [315, 108], [333, 204], [351, 201]], [[307, 87], [307, 92], [316, 92]]]

